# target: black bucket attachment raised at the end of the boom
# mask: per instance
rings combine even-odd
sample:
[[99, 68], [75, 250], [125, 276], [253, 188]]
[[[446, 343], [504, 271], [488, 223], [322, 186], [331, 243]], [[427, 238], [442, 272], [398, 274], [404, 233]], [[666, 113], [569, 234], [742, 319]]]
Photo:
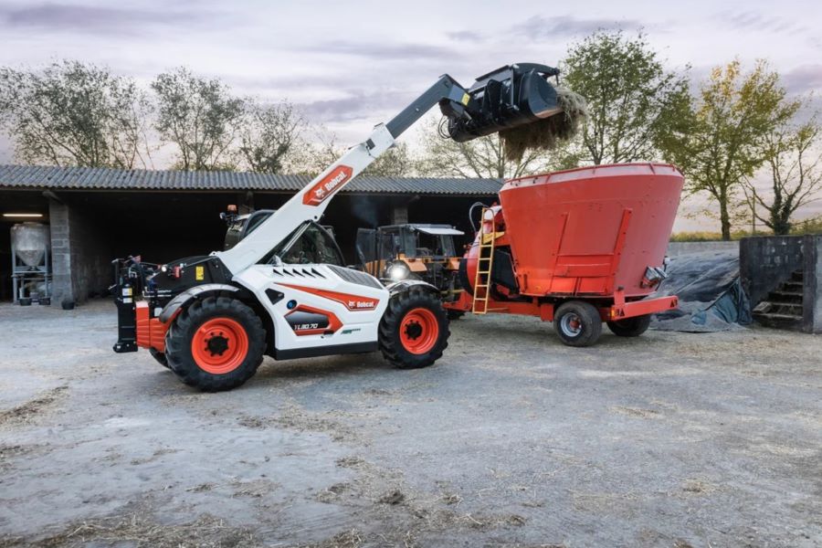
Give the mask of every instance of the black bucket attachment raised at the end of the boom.
[[558, 114], [562, 106], [547, 81], [558, 74], [558, 68], [519, 63], [480, 76], [463, 100], [464, 110], [455, 109], [453, 101], [440, 103], [448, 117], [448, 136], [467, 142]]

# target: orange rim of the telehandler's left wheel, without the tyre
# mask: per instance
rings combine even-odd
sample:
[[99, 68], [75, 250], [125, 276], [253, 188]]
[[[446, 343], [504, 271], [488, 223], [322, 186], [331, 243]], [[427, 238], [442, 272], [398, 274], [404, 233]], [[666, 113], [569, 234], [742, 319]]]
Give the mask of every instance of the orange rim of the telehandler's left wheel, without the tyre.
[[191, 354], [206, 373], [230, 373], [246, 359], [248, 333], [239, 321], [213, 318], [197, 328], [191, 341]]

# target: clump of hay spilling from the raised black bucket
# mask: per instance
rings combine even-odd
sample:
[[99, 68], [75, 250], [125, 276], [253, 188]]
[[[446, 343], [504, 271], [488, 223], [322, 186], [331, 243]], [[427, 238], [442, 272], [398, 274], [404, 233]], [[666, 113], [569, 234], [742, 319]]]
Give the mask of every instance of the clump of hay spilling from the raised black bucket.
[[553, 150], [579, 130], [588, 116], [585, 98], [562, 86], [556, 87], [556, 96], [561, 111], [550, 118], [500, 132], [505, 157], [511, 162], [522, 160], [522, 155], [530, 149]]

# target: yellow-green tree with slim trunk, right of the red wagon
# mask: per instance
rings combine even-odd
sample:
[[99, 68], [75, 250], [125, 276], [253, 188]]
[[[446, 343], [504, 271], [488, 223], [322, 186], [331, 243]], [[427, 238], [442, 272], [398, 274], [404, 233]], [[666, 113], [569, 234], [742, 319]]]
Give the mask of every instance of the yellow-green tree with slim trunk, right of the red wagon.
[[779, 75], [764, 60], [743, 75], [740, 62], [714, 68], [701, 84], [687, 127], [660, 138], [691, 194], [705, 192], [720, 208], [722, 239], [731, 239], [732, 209], [743, 182], [765, 161], [764, 136], [799, 107], [785, 98]]

